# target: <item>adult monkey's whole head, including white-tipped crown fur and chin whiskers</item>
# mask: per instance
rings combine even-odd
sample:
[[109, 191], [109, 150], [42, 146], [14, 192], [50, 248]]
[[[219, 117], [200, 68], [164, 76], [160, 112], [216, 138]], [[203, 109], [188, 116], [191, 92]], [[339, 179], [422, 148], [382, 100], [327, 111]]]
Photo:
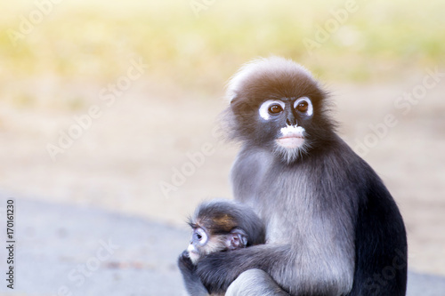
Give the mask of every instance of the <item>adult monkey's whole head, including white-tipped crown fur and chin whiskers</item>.
[[231, 78], [231, 137], [264, 148], [288, 164], [332, 139], [327, 93], [311, 72], [279, 57], [254, 60]]

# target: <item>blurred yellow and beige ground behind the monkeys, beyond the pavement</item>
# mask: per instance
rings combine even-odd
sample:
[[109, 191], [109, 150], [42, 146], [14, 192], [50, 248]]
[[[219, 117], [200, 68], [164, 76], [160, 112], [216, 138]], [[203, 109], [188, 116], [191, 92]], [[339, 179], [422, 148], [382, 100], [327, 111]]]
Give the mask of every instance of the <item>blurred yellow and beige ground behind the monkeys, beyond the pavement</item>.
[[[353, 148], [378, 137], [362, 156], [401, 207], [409, 267], [445, 275], [444, 12], [440, 0], [4, 3], [0, 190], [182, 225], [202, 199], [231, 196], [237, 148], [213, 133], [224, 85], [282, 55], [326, 84]], [[379, 137], [387, 115], [397, 124]]]

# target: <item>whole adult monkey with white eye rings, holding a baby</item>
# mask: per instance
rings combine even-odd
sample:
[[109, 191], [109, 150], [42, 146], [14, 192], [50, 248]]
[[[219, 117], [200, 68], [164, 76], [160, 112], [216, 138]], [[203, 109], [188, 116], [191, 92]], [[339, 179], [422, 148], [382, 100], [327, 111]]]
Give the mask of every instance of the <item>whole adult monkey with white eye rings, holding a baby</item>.
[[401, 214], [376, 172], [336, 135], [327, 93], [312, 74], [291, 60], [254, 60], [228, 92], [225, 117], [242, 144], [234, 196], [264, 220], [267, 244], [199, 260], [207, 290], [405, 295]]

